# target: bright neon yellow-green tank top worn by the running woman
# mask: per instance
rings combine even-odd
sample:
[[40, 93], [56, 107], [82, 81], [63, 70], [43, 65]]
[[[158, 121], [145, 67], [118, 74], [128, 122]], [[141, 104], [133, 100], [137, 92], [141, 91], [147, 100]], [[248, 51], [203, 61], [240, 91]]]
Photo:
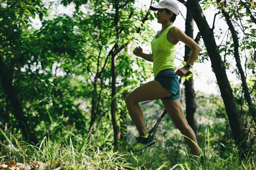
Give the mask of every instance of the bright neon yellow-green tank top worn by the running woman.
[[154, 77], [157, 74], [165, 70], [167, 68], [173, 68], [176, 70], [176, 65], [174, 62], [175, 54], [176, 54], [176, 45], [172, 44], [167, 40], [167, 33], [174, 26], [167, 27], [163, 34], [159, 38], [156, 38], [157, 34], [154, 36], [153, 40], [151, 41], [151, 50], [153, 54], [153, 73]]

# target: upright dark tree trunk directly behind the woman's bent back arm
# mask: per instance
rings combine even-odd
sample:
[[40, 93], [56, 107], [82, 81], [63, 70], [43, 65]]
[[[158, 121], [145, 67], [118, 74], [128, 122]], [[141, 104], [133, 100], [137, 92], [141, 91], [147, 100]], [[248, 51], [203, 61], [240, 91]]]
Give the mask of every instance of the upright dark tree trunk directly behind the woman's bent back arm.
[[[191, 14], [190, 8], [187, 8], [186, 13], [186, 23], [185, 23], [185, 34], [193, 39], [194, 31], [194, 20]], [[185, 45], [185, 56], [184, 61], [187, 62], [191, 53], [191, 48]], [[191, 75], [192, 73], [188, 71], [186, 76]], [[196, 110], [196, 101], [195, 101], [195, 89], [194, 89], [194, 80], [193, 75], [184, 82], [185, 85], [185, 99], [186, 99], [186, 119], [189, 123], [189, 126], [192, 127], [195, 132], [197, 141], [199, 142], [198, 137], [198, 125], [196, 122], [195, 110]]]

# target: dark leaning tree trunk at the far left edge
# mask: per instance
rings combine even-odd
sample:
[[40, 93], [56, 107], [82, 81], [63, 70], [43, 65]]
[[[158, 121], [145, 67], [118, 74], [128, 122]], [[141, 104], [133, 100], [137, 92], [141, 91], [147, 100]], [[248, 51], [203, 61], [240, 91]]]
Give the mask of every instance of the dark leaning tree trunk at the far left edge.
[[15, 115], [15, 119], [18, 122], [20, 130], [26, 141], [32, 144], [38, 144], [38, 140], [33, 132], [33, 130], [28, 125], [28, 119], [24, 116], [21, 103], [15, 94], [14, 87], [12, 86], [12, 81], [10, 79], [9, 73], [3, 63], [3, 57], [0, 56], [0, 77], [2, 81], [2, 86], [6, 92], [7, 99], [10, 101]]

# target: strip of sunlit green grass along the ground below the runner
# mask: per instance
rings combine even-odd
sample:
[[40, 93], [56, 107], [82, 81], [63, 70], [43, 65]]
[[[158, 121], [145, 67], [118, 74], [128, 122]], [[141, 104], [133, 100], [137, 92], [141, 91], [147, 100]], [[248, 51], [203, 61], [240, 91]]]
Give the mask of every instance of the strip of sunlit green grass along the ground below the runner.
[[[224, 153], [226, 159], [221, 158], [218, 151], [211, 150], [209, 131], [204, 136], [202, 153], [204, 164], [198, 163], [194, 156], [188, 154], [187, 148], [171, 149], [167, 146], [146, 148], [142, 152], [127, 153], [131, 144], [122, 142], [117, 150], [96, 146], [95, 137], [81, 144], [72, 138], [56, 137], [55, 141], [44, 137], [40, 144], [33, 146], [15, 139], [12, 134], [1, 130], [5, 142], [0, 142], [0, 161], [30, 163], [40, 161], [48, 164], [47, 169], [87, 169], [87, 170], [254, 170], [252, 158], [239, 161], [237, 149]], [[181, 134], [178, 134], [181, 135]], [[51, 138], [52, 139], [52, 138]], [[156, 141], [157, 142], [157, 141]], [[222, 154], [223, 155], [223, 154]], [[255, 159], [255, 157], [253, 158]]]

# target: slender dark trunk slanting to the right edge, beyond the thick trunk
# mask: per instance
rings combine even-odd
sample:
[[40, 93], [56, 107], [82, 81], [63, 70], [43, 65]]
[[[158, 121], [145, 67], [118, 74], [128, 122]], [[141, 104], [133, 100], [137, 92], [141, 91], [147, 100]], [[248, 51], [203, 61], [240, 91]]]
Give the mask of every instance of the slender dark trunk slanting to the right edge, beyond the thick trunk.
[[227, 14], [227, 12], [224, 9], [222, 9], [221, 11], [226, 19], [227, 25], [228, 25], [229, 30], [233, 37], [234, 57], [236, 59], [236, 67], [238, 68], [239, 74], [241, 76], [242, 88], [244, 91], [244, 98], [246, 99], [247, 105], [249, 106], [249, 113], [252, 115], [253, 120], [256, 123], [256, 108], [253, 107], [253, 102], [250, 97], [250, 92], [249, 92], [249, 88], [247, 86], [246, 77], [244, 76], [244, 71], [241, 66], [241, 61], [240, 61], [240, 56], [239, 56], [239, 39], [238, 39], [236, 30], [235, 30], [233, 24], [231, 23], [230, 16]]

